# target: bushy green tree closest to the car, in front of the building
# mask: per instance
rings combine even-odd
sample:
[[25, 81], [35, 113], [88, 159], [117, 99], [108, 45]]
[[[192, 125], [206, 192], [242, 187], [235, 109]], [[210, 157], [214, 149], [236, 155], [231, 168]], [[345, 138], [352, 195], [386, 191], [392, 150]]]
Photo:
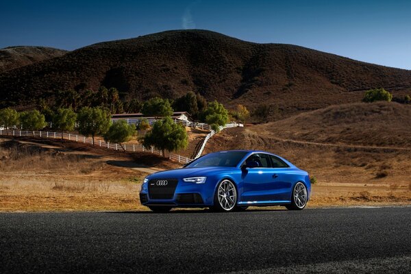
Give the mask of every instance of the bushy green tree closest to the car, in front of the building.
[[188, 135], [183, 125], [173, 122], [171, 117], [165, 117], [153, 124], [153, 127], [145, 134], [143, 145], [156, 147], [164, 155], [164, 151], [177, 151], [185, 149], [188, 145]]

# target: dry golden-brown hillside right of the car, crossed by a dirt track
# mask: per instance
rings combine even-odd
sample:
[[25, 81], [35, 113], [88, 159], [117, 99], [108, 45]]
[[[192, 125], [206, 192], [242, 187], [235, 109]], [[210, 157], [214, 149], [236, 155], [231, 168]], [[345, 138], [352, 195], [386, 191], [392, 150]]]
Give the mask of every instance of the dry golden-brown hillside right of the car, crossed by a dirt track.
[[224, 129], [210, 138], [204, 153], [262, 149], [282, 155], [321, 184], [396, 190], [410, 184], [410, 136], [411, 105], [351, 103], [273, 123]]

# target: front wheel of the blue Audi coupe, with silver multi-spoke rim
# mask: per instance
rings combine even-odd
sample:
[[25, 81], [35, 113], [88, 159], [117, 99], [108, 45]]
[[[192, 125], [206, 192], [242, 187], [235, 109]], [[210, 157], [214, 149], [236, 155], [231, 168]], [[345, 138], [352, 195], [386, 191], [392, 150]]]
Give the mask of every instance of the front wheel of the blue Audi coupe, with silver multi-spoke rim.
[[230, 212], [236, 209], [236, 204], [236, 186], [229, 179], [223, 179], [217, 186], [213, 209], [219, 212]]

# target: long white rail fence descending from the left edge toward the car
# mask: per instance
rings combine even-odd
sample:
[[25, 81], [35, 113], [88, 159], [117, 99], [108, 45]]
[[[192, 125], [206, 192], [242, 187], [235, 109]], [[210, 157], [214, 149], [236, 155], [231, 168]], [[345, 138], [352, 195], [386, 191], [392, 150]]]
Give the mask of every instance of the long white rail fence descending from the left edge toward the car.
[[[61, 139], [62, 138], [62, 134], [61, 132], [42, 132], [42, 131], [28, 131], [28, 130], [2, 130], [0, 129], [0, 136], [28, 136], [28, 137], [40, 137], [40, 138], [53, 138], [53, 139]], [[69, 134], [69, 133], [65, 133], [63, 134], [63, 138], [66, 140], [72, 140], [75, 142], [83, 142], [85, 144], [91, 144], [92, 143], [92, 138], [87, 138], [86, 136], [82, 136], [79, 134]], [[99, 147], [105, 147], [107, 149], [115, 149], [115, 150], [119, 150], [122, 149], [120, 145], [118, 144], [110, 144], [110, 142], [103, 142], [101, 140], [97, 140], [95, 142], [95, 146], [99, 146]], [[132, 144], [124, 144], [123, 145], [125, 151], [130, 151], [130, 152], [136, 152], [136, 151], [142, 151], [142, 152], [149, 152], [149, 153], [155, 153], [155, 154], [159, 154], [162, 155], [162, 151], [153, 149], [153, 147], [151, 148], [147, 148], [144, 147], [143, 145], [132, 145]], [[188, 163], [191, 162], [192, 159], [184, 157], [182, 155], [177, 155], [174, 153], [170, 153], [169, 154], [169, 159], [170, 160], [174, 160], [177, 162], [182, 162], [182, 163]]]

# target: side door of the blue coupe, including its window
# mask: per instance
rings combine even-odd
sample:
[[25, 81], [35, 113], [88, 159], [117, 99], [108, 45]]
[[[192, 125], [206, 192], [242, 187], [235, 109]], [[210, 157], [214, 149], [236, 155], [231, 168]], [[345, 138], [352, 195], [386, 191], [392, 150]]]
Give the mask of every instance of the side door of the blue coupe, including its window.
[[253, 153], [247, 162], [258, 162], [258, 167], [242, 169], [241, 201], [272, 201], [275, 199], [275, 178], [271, 158], [266, 153]]

